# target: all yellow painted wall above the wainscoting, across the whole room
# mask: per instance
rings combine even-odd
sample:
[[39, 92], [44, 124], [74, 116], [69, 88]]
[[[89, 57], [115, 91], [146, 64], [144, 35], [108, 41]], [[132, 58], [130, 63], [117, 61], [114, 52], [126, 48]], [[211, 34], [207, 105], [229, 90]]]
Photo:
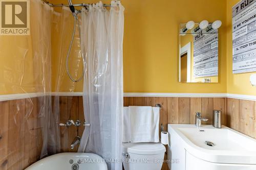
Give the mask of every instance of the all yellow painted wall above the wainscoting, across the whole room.
[[[66, 0], [52, 2], [67, 3]], [[84, 0], [73, 0], [73, 2], [81, 3]], [[87, 3], [95, 2], [98, 1]], [[249, 83], [251, 74], [232, 74], [231, 7], [237, 2], [238, 0], [199, 0], [197, 2], [123, 0], [122, 4], [125, 7], [124, 92], [228, 92], [255, 95], [256, 88], [251, 87]], [[110, 1], [103, 1], [103, 3], [109, 4]], [[209, 12], [213, 9], [215, 12]], [[203, 19], [209, 21], [220, 19], [223, 23], [219, 30], [219, 83], [179, 83], [179, 23]], [[0, 93], [34, 92], [33, 76], [30, 74], [33, 72], [31, 52], [29, 51], [25, 58], [17, 55], [22, 49], [19, 46], [30, 43], [30, 37], [0, 36], [0, 42]], [[54, 53], [56, 54], [56, 51]], [[53, 58], [53, 67], [56, 66], [54, 64], [56, 64], [56, 58]], [[24, 70], [28, 74], [24, 75], [20, 84], [20, 81], [15, 82], [15, 80], [20, 80], [22, 65], [25, 65]], [[53, 68], [53, 81], [56, 80], [56, 76], [56, 69]], [[74, 85], [67, 75], [62, 84], [61, 91], [82, 91], [82, 83]], [[70, 86], [75, 88], [71, 89]]]

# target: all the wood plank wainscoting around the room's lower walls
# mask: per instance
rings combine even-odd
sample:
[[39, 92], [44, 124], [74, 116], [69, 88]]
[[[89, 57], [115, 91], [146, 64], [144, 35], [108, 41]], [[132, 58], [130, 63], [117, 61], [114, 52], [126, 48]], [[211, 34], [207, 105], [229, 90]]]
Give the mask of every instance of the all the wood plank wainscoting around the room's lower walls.
[[[54, 101], [52, 96], [52, 101]], [[24, 169], [39, 160], [42, 136], [39, 124], [39, 98], [0, 102], [0, 169]], [[256, 138], [256, 102], [230, 98], [154, 98], [124, 97], [124, 106], [155, 106], [161, 104], [160, 124], [194, 124], [195, 112], [209, 119], [212, 111], [222, 110], [222, 124]], [[53, 106], [54, 107], [54, 106]], [[59, 96], [60, 123], [69, 119], [84, 122], [82, 96]], [[60, 127], [61, 152], [70, 150], [70, 144], [84, 127]], [[165, 159], [167, 155], [165, 155]], [[167, 164], [163, 164], [167, 170]]]

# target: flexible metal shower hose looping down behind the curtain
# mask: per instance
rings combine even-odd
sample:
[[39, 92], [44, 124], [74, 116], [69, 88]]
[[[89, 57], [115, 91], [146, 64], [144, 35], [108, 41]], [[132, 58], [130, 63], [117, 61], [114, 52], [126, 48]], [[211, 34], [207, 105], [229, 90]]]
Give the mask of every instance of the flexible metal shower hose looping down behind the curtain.
[[83, 74], [84, 72], [82, 71], [82, 75], [79, 79], [73, 79], [72, 76], [70, 75], [70, 71], [69, 71], [69, 56], [70, 56], [70, 52], [71, 52], [71, 48], [72, 48], [72, 44], [73, 44], [73, 41], [74, 41], [74, 37], [75, 37], [75, 32], [76, 32], [76, 20], [77, 20], [77, 23], [78, 23], [78, 30], [79, 30], [79, 41], [80, 41], [80, 44], [81, 44], [81, 31], [80, 31], [80, 23], [79, 23], [79, 19], [78, 17], [74, 16], [74, 28], [73, 28], [73, 33], [72, 33], [72, 38], [71, 38], [71, 41], [70, 41], [70, 45], [69, 45], [69, 51], [68, 51], [68, 54], [67, 54], [67, 57], [66, 57], [66, 69], [67, 69], [67, 74], [69, 76], [69, 78], [73, 81], [73, 82], [79, 82], [82, 80], [82, 77], [83, 77]]

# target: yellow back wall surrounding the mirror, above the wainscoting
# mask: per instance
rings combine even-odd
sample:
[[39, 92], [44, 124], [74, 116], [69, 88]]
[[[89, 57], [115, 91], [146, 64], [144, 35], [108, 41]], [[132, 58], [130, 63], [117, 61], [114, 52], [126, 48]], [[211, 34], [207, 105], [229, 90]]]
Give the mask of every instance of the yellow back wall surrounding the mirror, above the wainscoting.
[[[54, 4], [67, 3], [63, 0]], [[83, 0], [73, 0], [81, 3]], [[87, 1], [87, 3], [98, 1]], [[103, 1], [109, 4], [110, 1]], [[225, 93], [226, 88], [226, 3], [223, 0], [136, 1], [123, 0], [124, 16], [124, 92]], [[198, 10], [196, 10], [198, 9]], [[215, 9], [215, 12], [209, 12]], [[196, 12], [195, 12], [196, 11]], [[188, 20], [220, 19], [220, 78], [215, 84], [178, 82], [179, 24]], [[55, 79], [56, 75], [53, 75]], [[65, 87], [70, 80], [66, 79]], [[79, 84], [74, 91], [81, 91]], [[55, 89], [53, 87], [52, 89]]]

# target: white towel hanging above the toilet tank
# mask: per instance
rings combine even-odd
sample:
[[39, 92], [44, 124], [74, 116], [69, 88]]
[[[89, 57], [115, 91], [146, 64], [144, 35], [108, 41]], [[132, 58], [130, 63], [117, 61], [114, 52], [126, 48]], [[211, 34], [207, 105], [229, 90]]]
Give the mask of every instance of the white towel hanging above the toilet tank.
[[123, 115], [123, 142], [159, 142], [158, 107], [124, 107]]

